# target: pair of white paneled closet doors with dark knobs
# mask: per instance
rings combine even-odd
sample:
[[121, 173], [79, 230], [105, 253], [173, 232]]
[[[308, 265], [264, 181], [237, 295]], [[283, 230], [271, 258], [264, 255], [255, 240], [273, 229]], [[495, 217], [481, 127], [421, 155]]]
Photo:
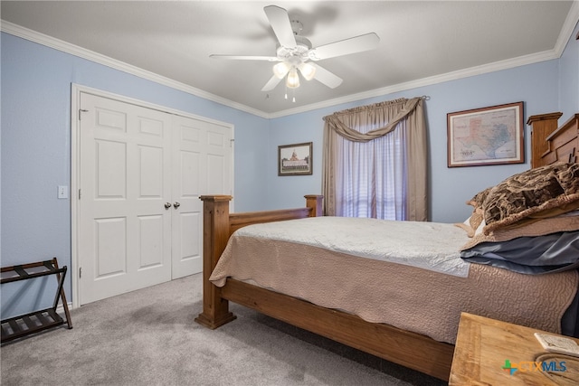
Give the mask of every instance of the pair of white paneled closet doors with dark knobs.
[[233, 128], [81, 93], [81, 305], [203, 269], [202, 194], [232, 194]]

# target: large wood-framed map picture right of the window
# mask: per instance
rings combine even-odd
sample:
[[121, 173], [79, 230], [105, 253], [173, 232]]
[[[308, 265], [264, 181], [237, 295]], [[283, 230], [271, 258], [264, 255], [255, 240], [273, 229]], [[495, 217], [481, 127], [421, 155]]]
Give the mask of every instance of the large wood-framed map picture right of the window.
[[448, 167], [525, 162], [523, 102], [449, 113]]

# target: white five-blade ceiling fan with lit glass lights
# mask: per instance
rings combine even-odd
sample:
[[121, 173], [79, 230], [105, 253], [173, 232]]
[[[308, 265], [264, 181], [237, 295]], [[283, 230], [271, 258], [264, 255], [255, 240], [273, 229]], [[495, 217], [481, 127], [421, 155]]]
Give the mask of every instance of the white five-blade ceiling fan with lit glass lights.
[[373, 50], [380, 42], [377, 34], [365, 33], [339, 42], [312, 47], [308, 39], [299, 35], [302, 24], [297, 20], [291, 20], [285, 9], [277, 5], [268, 5], [263, 8], [263, 11], [279, 42], [276, 56], [210, 55], [212, 58], [242, 61], [277, 61], [278, 63], [273, 66], [273, 76], [261, 91], [275, 89], [286, 75], [286, 86], [292, 89], [298, 88], [298, 71], [305, 80], [315, 79], [335, 89], [342, 83], [342, 79], [319, 66], [315, 61]]

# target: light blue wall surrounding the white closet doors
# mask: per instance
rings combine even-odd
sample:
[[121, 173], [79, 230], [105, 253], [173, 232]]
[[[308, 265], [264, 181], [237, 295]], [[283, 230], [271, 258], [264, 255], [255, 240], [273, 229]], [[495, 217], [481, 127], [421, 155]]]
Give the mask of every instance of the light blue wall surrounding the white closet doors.
[[71, 185], [71, 83], [233, 124], [235, 210], [261, 208], [267, 119], [8, 33], [1, 39], [3, 267], [56, 256], [71, 268], [71, 202], [57, 199], [57, 186]]

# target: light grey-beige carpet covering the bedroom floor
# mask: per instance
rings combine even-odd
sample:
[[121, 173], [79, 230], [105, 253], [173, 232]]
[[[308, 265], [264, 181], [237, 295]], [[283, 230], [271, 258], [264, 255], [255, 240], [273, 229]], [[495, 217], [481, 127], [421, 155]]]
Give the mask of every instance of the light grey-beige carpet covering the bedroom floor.
[[202, 277], [71, 310], [58, 327], [0, 349], [2, 385], [441, 385], [248, 308], [197, 325]]

